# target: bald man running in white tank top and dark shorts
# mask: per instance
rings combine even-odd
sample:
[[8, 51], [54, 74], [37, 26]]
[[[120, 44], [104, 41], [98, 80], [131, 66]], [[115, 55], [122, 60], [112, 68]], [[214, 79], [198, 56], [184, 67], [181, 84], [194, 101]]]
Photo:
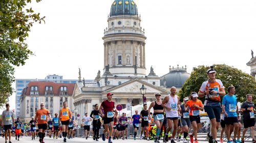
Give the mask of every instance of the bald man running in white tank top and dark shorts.
[[178, 118], [179, 118], [178, 111], [181, 110], [179, 105], [179, 100], [180, 100], [179, 96], [176, 95], [176, 88], [172, 87], [170, 88], [170, 94], [165, 96], [162, 102], [162, 106], [165, 108], [165, 113], [166, 113], [166, 118], [168, 123], [168, 128], [166, 130], [166, 134], [164, 138], [165, 141], [168, 141], [168, 133], [173, 128], [172, 124], [174, 122], [172, 140], [170, 141], [171, 143], [175, 143], [174, 138], [175, 138], [177, 127], [178, 127]]

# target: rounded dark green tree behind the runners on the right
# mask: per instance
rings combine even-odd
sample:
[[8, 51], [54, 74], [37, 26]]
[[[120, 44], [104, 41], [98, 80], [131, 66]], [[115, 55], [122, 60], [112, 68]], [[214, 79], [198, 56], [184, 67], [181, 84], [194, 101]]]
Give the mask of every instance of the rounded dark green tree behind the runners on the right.
[[[202, 83], [208, 80], [206, 71], [210, 67], [198, 66], [193, 68], [190, 77], [185, 81], [179, 96], [181, 99], [190, 95], [191, 92], [199, 92]], [[225, 87], [227, 94], [227, 88], [233, 85], [236, 88], [236, 95], [239, 102], [246, 100], [246, 94], [253, 94], [254, 103], [256, 102], [256, 82], [255, 78], [247, 73], [242, 72], [237, 68], [233, 68], [227, 65], [214, 65], [214, 69], [217, 71], [216, 79], [220, 79]], [[199, 98], [204, 102], [205, 97]]]

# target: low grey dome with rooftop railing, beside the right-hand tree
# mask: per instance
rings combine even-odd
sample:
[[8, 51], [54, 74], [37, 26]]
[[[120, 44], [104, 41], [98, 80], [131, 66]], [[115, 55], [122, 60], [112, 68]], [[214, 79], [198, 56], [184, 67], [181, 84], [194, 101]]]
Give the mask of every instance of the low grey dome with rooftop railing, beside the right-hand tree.
[[160, 85], [166, 87], [167, 91], [176, 87], [178, 92], [189, 76], [186, 66], [185, 68], [179, 68], [179, 65], [177, 68], [170, 68], [169, 66], [169, 73], [160, 77]]

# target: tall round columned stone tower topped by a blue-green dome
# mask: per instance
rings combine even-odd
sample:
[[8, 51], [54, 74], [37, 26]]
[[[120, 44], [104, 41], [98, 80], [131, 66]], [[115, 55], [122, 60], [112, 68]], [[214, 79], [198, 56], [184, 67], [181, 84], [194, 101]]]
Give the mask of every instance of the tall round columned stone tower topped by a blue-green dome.
[[[104, 30], [104, 74], [144, 77], [145, 40], [136, 4], [132, 0], [115, 0], [108, 27]], [[108, 66], [109, 65], [109, 66]], [[103, 76], [104, 76], [103, 74]]]

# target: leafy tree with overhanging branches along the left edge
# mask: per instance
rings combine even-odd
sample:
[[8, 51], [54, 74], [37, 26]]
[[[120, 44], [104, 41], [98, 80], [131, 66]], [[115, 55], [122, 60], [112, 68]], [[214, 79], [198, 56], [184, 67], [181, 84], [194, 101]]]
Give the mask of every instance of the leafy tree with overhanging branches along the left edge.
[[[41, 0], [36, 0], [40, 2]], [[33, 23], [44, 21], [40, 13], [26, 9], [31, 0], [0, 0], [0, 107], [13, 93], [13, 66], [24, 65], [29, 55], [26, 38]]]

